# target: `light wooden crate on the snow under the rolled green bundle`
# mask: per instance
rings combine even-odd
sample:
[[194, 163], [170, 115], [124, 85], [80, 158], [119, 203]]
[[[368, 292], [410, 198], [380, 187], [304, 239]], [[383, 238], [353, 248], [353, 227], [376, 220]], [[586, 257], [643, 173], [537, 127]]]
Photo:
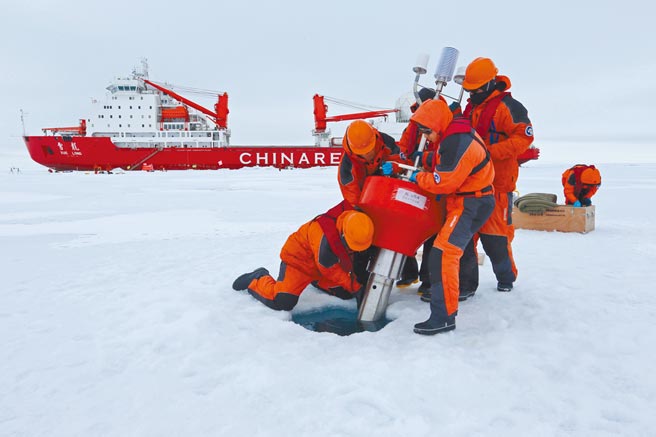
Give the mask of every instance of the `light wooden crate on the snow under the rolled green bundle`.
[[517, 229], [536, 231], [581, 232], [594, 231], [594, 205], [575, 208], [560, 205], [544, 214], [527, 214], [513, 209], [512, 220]]

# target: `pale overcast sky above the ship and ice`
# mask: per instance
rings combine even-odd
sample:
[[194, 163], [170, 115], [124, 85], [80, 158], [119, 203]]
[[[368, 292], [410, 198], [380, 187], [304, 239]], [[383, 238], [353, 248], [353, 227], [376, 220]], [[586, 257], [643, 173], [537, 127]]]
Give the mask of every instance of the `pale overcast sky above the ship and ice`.
[[[234, 145], [311, 144], [315, 93], [391, 108], [410, 91], [421, 53], [431, 55], [422, 83], [433, 85], [444, 46], [460, 50], [458, 65], [496, 62], [528, 108], [538, 145], [651, 141], [656, 7], [576, 3], [12, 2], [0, 18], [0, 148], [23, 147], [20, 109], [28, 134], [75, 125], [142, 57], [153, 80], [227, 91]], [[346, 112], [329, 104], [329, 115]]]

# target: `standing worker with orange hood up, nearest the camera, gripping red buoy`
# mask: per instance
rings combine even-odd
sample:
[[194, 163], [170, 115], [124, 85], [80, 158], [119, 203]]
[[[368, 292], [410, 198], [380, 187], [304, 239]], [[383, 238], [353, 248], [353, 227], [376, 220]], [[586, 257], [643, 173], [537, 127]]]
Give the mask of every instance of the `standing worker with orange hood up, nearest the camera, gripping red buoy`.
[[469, 120], [453, 118], [440, 100], [423, 103], [412, 116], [420, 132], [437, 152], [422, 154], [422, 167], [413, 172], [423, 190], [446, 196], [446, 221], [429, 257], [431, 314], [415, 325], [418, 334], [433, 335], [455, 329], [458, 313], [460, 258], [472, 236], [494, 210], [494, 168], [483, 140]]

